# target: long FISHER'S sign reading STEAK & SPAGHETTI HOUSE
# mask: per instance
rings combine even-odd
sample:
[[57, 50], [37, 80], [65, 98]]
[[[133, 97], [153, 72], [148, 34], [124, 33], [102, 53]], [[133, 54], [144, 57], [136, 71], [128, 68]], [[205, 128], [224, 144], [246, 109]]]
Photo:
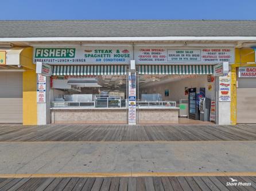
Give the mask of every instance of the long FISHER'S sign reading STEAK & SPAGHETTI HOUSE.
[[129, 64], [131, 47], [34, 47], [33, 63]]

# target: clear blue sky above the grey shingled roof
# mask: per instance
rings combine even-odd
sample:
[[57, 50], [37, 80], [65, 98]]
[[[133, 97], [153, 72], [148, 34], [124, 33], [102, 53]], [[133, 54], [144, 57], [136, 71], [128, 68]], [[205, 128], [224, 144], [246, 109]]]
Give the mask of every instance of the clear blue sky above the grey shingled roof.
[[1, 20], [256, 19], [256, 0], [12, 0]]

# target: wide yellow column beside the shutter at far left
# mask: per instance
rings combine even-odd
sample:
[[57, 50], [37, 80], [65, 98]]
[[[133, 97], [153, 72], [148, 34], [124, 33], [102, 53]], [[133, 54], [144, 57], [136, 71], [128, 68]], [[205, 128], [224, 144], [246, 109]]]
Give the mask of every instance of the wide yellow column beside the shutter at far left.
[[23, 125], [37, 125], [36, 71], [23, 72]]

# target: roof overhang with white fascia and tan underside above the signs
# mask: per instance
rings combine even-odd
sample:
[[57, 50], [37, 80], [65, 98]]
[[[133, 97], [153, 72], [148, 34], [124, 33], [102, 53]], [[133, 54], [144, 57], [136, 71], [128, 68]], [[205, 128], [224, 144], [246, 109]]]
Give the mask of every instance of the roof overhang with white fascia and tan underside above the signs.
[[[197, 46], [255, 47], [256, 37], [30, 37], [0, 38], [0, 47], [10, 43], [28, 46]], [[5, 45], [6, 46], [6, 45]], [[5, 47], [3, 46], [3, 47]]]

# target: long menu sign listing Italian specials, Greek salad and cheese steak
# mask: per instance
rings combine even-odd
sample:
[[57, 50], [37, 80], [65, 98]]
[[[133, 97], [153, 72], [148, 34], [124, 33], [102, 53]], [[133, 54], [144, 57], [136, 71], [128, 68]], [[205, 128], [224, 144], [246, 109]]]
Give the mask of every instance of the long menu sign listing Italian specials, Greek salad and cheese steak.
[[170, 47], [135, 47], [135, 61], [138, 64], [202, 64], [234, 62], [234, 49], [205, 47], [196, 49], [174, 49]]

